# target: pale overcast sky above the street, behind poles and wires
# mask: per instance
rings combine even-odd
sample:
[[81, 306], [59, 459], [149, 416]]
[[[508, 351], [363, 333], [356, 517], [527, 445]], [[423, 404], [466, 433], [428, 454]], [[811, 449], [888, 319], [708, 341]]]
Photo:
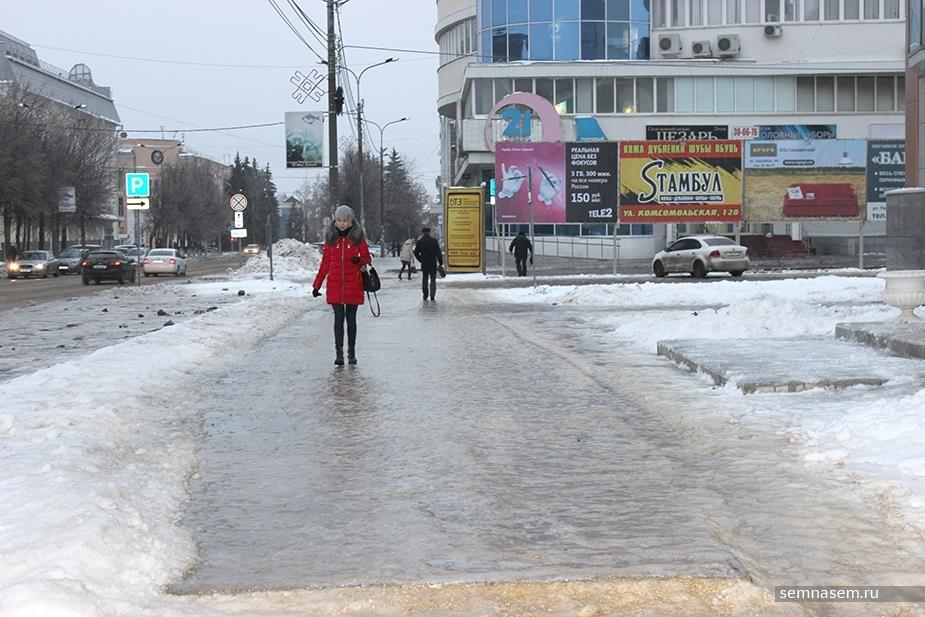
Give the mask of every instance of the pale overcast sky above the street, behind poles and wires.
[[[323, 46], [296, 19], [287, 0], [275, 2], [326, 57]], [[322, 0], [298, 0], [298, 4], [326, 28]], [[0, 30], [25, 40], [39, 58], [59, 68], [87, 64], [97, 84], [112, 88], [128, 130], [163, 126], [166, 137], [174, 137], [177, 129], [176, 136], [182, 137], [184, 128], [282, 122], [286, 111], [326, 109], [326, 101], [300, 105], [292, 98], [295, 86], [289, 78], [296, 70], [323, 71], [325, 67], [317, 64], [318, 58], [269, 0], [28, 0], [3, 5]], [[418, 181], [431, 194], [440, 173], [435, 21], [433, 0], [349, 0], [341, 7], [346, 45], [434, 52], [346, 51], [347, 65], [357, 73], [388, 56], [399, 58], [363, 76], [365, 114], [379, 124], [410, 118], [386, 130], [386, 148], [395, 147], [413, 162]], [[352, 135], [349, 122], [341, 116], [340, 136]], [[240, 151], [261, 164], [269, 162], [283, 192], [297, 189], [306, 177], [326, 173], [286, 169], [282, 126], [187, 133], [184, 140], [188, 149], [218, 161], [230, 162]], [[379, 141], [378, 130], [375, 141]]]

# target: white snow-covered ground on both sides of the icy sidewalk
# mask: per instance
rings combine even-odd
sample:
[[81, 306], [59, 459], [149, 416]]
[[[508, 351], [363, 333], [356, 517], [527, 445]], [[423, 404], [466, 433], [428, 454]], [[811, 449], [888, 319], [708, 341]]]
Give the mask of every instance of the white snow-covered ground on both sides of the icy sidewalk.
[[[249, 347], [308, 310], [305, 280], [317, 263], [310, 247], [280, 245], [276, 281], [260, 256], [229, 280], [120, 288], [2, 314], [0, 615], [192, 614], [187, 600], [163, 593], [196, 558], [179, 526], [199, 422], [183, 392], [240, 370]], [[799, 338], [831, 335], [838, 322], [888, 320], [897, 311], [880, 302], [882, 285], [829, 276], [472, 293], [613, 307], [594, 319], [606, 320], [614, 343], [654, 354], [660, 339]], [[925, 385], [912, 374], [841, 392], [745, 396], [726, 388], [719, 395], [729, 404], [720, 408], [737, 410], [731, 421], [770, 424], [798, 440], [809, 464], [846, 464], [892, 483], [921, 520]], [[678, 379], [716, 395], [705, 380]], [[199, 605], [195, 614], [217, 613]]]

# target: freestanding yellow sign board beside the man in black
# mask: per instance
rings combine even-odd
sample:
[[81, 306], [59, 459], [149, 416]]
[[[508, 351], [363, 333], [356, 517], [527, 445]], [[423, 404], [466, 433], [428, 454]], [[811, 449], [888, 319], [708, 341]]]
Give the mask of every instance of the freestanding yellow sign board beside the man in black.
[[448, 187], [443, 221], [448, 272], [481, 272], [485, 263], [485, 198], [481, 188]]

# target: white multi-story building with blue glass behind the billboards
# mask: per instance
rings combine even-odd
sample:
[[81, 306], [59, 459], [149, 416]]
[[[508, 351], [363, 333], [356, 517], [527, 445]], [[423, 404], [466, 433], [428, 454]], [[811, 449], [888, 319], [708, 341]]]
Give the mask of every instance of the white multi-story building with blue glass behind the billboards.
[[[899, 0], [438, 0], [437, 8], [447, 184], [494, 176], [489, 142], [505, 139], [505, 125], [490, 114], [514, 92], [549, 101], [566, 140], [736, 138], [737, 127], [776, 125], [831, 127], [840, 139], [904, 137]], [[542, 139], [532, 122], [530, 139]], [[647, 257], [703, 227], [617, 232], [625, 257]], [[833, 252], [856, 250], [859, 235], [857, 222], [746, 221], [735, 231]], [[612, 233], [613, 225], [537, 226], [558, 237]], [[877, 250], [884, 225], [863, 233]]]

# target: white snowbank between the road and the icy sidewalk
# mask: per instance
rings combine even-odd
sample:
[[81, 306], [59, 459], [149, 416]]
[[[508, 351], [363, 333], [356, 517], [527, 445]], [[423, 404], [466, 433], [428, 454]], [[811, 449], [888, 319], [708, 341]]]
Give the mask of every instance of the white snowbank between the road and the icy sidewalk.
[[309, 306], [304, 286], [245, 298], [0, 384], [0, 615], [163, 602], [196, 557], [178, 525], [201, 420], [185, 393], [229, 369], [230, 343], [243, 352]]

